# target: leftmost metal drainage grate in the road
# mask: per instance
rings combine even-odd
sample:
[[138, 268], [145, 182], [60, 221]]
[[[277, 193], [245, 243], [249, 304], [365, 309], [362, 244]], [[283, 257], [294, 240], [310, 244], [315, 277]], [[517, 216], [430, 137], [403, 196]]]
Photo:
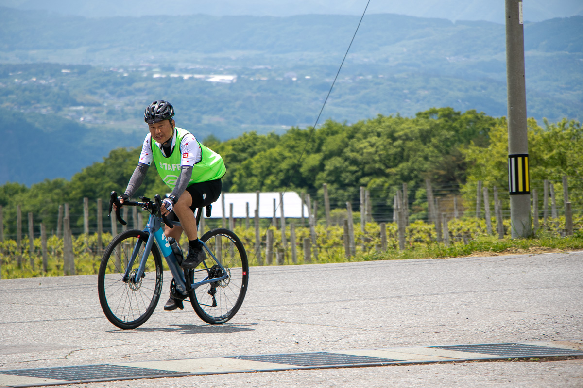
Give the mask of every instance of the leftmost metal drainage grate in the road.
[[62, 366], [58, 368], [14, 369], [12, 371], [0, 371], [0, 374], [36, 377], [41, 379], [76, 381], [177, 375], [180, 374], [180, 372], [161, 371], [160, 369], [135, 368], [134, 366], [83, 365]]

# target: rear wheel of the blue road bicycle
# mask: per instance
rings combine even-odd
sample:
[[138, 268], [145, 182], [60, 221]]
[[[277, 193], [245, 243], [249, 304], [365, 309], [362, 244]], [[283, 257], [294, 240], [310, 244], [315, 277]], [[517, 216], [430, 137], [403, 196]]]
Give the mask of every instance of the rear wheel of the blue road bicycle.
[[[233, 318], [243, 304], [249, 280], [247, 252], [237, 235], [229, 229], [213, 229], [202, 236], [202, 241], [213, 252], [229, 274], [220, 282], [208, 283], [189, 291], [192, 308], [203, 321], [220, 325]], [[207, 255], [209, 256], [209, 255]], [[195, 274], [220, 277], [222, 272], [212, 258], [206, 259], [209, 268], [190, 270], [187, 279], [191, 282]], [[214, 302], [214, 303], [213, 303]], [[214, 304], [214, 305], [213, 305]]]

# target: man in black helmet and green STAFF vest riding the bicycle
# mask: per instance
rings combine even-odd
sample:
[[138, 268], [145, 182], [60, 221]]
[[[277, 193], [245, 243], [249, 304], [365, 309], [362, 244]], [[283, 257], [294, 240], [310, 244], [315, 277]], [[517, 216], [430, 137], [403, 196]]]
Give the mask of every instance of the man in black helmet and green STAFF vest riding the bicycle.
[[[167, 101], [154, 101], [145, 109], [144, 121], [150, 133], [144, 139], [138, 166], [124, 194], [120, 195], [120, 202], [123, 204], [135, 194], [150, 163], [154, 162], [161, 179], [172, 190], [162, 202], [162, 215], [167, 216], [168, 220], [178, 217], [182, 226], [174, 226], [173, 229], [165, 227], [164, 234], [168, 242], [174, 245], [174, 240], [180, 243], [184, 229], [188, 238], [188, 254], [182, 260], [181, 267], [194, 269], [206, 259], [198, 239], [194, 211], [219, 198], [221, 178], [226, 169], [221, 156], [197, 141], [192, 133], [176, 127], [173, 116], [174, 108]], [[184, 308], [182, 300], [185, 297], [181, 298], [171, 290], [164, 310]]]

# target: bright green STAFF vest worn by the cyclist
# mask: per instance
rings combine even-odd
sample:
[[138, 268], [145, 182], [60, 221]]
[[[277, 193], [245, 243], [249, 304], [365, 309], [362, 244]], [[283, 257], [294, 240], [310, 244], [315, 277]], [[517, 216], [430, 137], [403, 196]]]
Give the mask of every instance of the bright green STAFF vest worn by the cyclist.
[[[164, 183], [173, 190], [174, 186], [176, 186], [178, 175], [180, 175], [180, 159], [182, 157], [180, 143], [182, 142], [182, 137], [189, 133], [187, 130], [178, 127], [176, 127], [175, 130], [176, 143], [172, 150], [172, 154], [168, 157], [162, 154], [162, 151], [157, 145], [154, 145], [153, 139], [150, 140], [150, 149], [152, 149], [152, 157], [156, 169]], [[188, 186], [193, 183], [219, 179], [220, 177], [223, 177], [226, 172], [223, 158], [221, 158], [219, 154], [210, 148], [206, 148], [201, 142], [198, 142], [198, 145], [201, 146], [202, 158], [201, 161], [196, 163], [192, 168], [192, 177], [188, 182]]]

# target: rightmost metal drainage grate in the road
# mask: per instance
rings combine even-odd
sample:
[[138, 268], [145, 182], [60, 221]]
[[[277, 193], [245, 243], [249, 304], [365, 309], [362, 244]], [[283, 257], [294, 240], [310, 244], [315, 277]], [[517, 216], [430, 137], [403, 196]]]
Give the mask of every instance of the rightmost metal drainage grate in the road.
[[554, 355], [581, 355], [581, 350], [553, 348], [525, 344], [483, 344], [483, 345], [449, 345], [429, 346], [431, 348], [467, 351], [471, 353], [486, 353], [503, 357], [543, 357]]

